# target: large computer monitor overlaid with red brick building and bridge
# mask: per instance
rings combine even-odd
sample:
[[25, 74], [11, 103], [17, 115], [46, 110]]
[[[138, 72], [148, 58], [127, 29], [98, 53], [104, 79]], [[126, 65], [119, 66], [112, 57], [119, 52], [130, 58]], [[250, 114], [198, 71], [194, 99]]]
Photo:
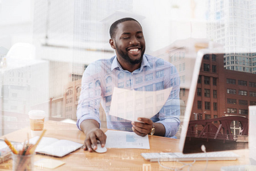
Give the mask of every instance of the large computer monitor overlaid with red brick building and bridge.
[[253, 55], [208, 49], [198, 51], [196, 59], [186, 59], [190, 72], [179, 73], [182, 103], [177, 134], [183, 153], [202, 152], [201, 145], [206, 152], [248, 148], [248, 107], [256, 105], [254, 58], [249, 58]]

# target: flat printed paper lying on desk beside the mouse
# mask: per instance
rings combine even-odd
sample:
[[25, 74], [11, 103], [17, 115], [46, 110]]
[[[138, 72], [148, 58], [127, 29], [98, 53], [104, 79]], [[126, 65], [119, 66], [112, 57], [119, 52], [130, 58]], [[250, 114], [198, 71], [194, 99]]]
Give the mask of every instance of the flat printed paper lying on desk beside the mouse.
[[134, 132], [111, 131], [105, 132], [107, 135], [106, 148], [141, 148], [150, 149], [148, 135], [141, 137]]

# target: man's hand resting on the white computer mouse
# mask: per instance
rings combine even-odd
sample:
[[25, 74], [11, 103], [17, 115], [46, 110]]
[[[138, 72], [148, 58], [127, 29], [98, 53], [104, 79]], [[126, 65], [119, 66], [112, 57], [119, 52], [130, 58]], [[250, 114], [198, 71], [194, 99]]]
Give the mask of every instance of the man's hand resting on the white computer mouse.
[[84, 140], [84, 150], [88, 149], [89, 152], [92, 152], [92, 146], [94, 149], [97, 149], [97, 140], [100, 141], [101, 147], [104, 147], [106, 139], [107, 136], [101, 129], [92, 129], [87, 133], [86, 140]]

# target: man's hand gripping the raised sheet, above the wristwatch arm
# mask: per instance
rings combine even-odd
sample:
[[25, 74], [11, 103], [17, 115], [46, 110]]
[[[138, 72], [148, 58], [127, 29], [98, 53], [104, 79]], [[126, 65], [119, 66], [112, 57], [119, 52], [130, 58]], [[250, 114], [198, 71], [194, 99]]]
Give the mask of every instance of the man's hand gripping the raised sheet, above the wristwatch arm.
[[142, 123], [132, 121], [132, 131], [137, 135], [144, 137], [148, 135], [149, 132], [151, 132], [153, 128], [153, 121], [145, 117], [139, 117], [138, 120]]

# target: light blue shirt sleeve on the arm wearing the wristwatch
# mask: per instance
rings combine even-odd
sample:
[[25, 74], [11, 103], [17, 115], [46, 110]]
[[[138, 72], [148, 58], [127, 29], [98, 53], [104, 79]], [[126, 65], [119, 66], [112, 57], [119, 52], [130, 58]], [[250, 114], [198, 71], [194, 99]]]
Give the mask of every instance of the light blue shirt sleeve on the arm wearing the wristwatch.
[[164, 125], [165, 137], [173, 137], [180, 127], [180, 77], [172, 64], [166, 70], [170, 74], [165, 76], [164, 88], [172, 87], [172, 91], [161, 108], [156, 123]]

